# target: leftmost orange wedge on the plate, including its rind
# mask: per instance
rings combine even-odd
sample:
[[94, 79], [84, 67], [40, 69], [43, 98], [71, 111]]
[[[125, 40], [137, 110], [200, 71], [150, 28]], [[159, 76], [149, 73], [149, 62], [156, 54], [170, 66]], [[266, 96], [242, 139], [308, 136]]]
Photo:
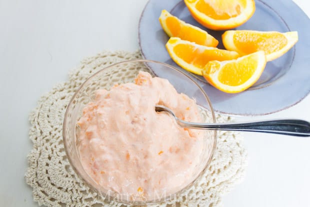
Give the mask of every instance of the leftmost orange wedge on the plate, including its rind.
[[169, 37], [178, 37], [182, 40], [209, 47], [216, 47], [218, 45], [218, 41], [207, 32], [193, 25], [186, 24], [170, 15], [170, 13], [165, 10], [161, 11], [159, 22], [162, 29]]

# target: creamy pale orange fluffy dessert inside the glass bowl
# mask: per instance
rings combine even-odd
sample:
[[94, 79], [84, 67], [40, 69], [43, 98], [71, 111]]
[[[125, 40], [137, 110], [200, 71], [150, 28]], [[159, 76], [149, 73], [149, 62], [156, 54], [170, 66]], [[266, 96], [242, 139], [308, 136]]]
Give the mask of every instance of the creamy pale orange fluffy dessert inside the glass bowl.
[[155, 105], [201, 122], [194, 100], [165, 79], [139, 72], [135, 83], [99, 89], [78, 121], [78, 151], [100, 186], [135, 197], [175, 193], [193, 181], [203, 153], [204, 132], [179, 127]]

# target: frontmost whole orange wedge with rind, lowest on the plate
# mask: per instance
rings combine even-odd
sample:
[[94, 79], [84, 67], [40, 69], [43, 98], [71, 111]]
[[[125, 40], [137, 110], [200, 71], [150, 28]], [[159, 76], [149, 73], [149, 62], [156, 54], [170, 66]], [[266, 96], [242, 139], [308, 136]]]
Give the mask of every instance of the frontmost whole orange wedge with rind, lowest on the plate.
[[231, 61], [210, 61], [202, 70], [205, 80], [220, 91], [238, 93], [252, 86], [266, 65], [263, 51]]

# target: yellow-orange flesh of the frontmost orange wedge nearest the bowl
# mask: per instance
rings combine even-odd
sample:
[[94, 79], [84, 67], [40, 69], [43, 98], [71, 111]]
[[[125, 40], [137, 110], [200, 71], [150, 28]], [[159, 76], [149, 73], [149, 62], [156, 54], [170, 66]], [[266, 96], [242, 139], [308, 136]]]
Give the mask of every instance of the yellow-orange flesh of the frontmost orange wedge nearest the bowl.
[[257, 60], [253, 58], [227, 63], [219, 71], [218, 81], [229, 86], [241, 85], [254, 74], [257, 65]]

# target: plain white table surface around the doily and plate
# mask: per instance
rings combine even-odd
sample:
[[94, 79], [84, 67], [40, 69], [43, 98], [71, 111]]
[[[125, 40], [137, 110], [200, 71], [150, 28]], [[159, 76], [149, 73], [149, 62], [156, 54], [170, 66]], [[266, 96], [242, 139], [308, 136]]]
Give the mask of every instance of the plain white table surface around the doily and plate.
[[[40, 95], [70, 69], [102, 50], [136, 51], [139, 16], [147, 0], [0, 0], [0, 206], [37, 206], [25, 183], [28, 114]], [[280, 2], [280, 1], [279, 1]], [[295, 0], [310, 16], [310, 3]], [[309, 31], [310, 32], [310, 31]], [[284, 111], [238, 120], [310, 121], [310, 96]], [[310, 206], [310, 138], [244, 134], [244, 181], [225, 206]]]

